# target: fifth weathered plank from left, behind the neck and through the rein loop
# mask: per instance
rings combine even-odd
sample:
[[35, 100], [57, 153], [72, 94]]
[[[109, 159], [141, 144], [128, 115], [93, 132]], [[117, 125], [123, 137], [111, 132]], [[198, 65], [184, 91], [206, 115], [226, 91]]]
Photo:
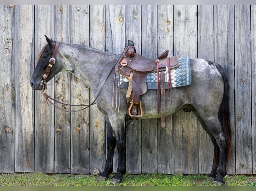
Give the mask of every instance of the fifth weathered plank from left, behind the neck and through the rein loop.
[[[70, 9], [71, 43], [89, 46], [89, 5], [71, 5]], [[89, 102], [90, 89], [71, 75], [71, 104]], [[78, 109], [81, 107], [71, 107]], [[71, 113], [71, 173], [90, 173], [90, 108]]]

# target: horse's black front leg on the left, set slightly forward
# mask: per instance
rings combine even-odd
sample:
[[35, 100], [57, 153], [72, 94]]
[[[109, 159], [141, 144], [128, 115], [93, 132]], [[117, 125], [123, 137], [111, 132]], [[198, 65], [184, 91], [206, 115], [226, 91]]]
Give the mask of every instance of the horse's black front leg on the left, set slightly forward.
[[109, 179], [109, 174], [113, 172], [113, 157], [114, 157], [114, 150], [116, 147], [116, 138], [114, 137], [114, 131], [112, 129], [112, 126], [110, 124], [109, 119], [105, 116], [106, 121], [106, 130], [107, 130], [107, 159], [104, 167], [104, 171], [100, 174], [98, 177], [98, 180], [100, 179]]

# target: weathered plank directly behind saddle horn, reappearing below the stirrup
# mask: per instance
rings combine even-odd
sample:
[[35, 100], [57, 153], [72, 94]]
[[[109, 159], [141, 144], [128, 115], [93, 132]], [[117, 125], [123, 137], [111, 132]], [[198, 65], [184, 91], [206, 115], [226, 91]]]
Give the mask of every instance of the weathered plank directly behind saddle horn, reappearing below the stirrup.
[[[138, 54], [141, 54], [141, 6], [125, 6], [126, 42], [132, 40]], [[127, 45], [127, 44], [126, 44]], [[141, 173], [141, 119], [126, 121], [126, 172]], [[129, 126], [129, 128], [127, 128]]]

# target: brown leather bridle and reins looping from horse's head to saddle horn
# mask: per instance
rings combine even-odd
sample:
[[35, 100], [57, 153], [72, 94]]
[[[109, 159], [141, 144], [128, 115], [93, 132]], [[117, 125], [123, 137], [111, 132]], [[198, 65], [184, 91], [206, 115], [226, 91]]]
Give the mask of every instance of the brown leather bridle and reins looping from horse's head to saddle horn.
[[[40, 52], [40, 54], [39, 54], [39, 56], [38, 56], [37, 62], [39, 61], [39, 59], [40, 59], [40, 57], [41, 57], [41, 55], [42, 55], [44, 49], [46, 49], [47, 45], [48, 45], [48, 44], [46, 44], [46, 45], [43, 47], [43, 49], [41, 50], [41, 52]], [[84, 109], [90, 107], [91, 105], [96, 104], [96, 99], [97, 99], [98, 96], [100, 95], [100, 92], [102, 91], [103, 86], [104, 86], [104, 84], [106, 83], [106, 81], [107, 81], [107, 79], [108, 79], [108, 77], [109, 77], [111, 71], [112, 71], [113, 68], [115, 67], [116, 63], [121, 60], [121, 58], [120, 58], [121, 56], [119, 57], [119, 59], [117, 59], [117, 61], [115, 62], [115, 64], [114, 64], [114, 65], [112, 66], [112, 68], [110, 69], [110, 71], [109, 71], [109, 73], [108, 73], [108, 75], [107, 75], [105, 81], [104, 81], [103, 84], [101, 85], [101, 88], [100, 88], [98, 94], [96, 95], [95, 99], [93, 100], [93, 102], [92, 102], [91, 104], [89, 104], [89, 105], [88, 105], [88, 104], [87, 104], [87, 105], [73, 105], [73, 104], [67, 104], [67, 103], [62, 103], [62, 102], [60, 102], [60, 101], [57, 101], [56, 99], [51, 98], [49, 95], [47, 95], [47, 94], [44, 92], [44, 90], [46, 89], [46, 84], [47, 84], [47, 83], [46, 83], [46, 79], [48, 78], [48, 75], [49, 75], [49, 73], [50, 73], [50, 70], [51, 70], [53, 64], [55, 63], [55, 58], [56, 58], [56, 55], [57, 55], [57, 52], [58, 52], [58, 47], [59, 47], [59, 42], [56, 41], [56, 45], [55, 45], [55, 48], [54, 48], [53, 55], [52, 55], [52, 57], [51, 57], [50, 60], [49, 60], [49, 64], [48, 64], [47, 68], [45, 69], [45, 71], [44, 71], [43, 74], [42, 74], [42, 81], [41, 81], [40, 85], [43, 86], [42, 95], [43, 95], [44, 98], [46, 99], [45, 102], [48, 101], [48, 102], [50, 102], [52, 105], [54, 105], [56, 108], [58, 108], [59, 110], [65, 111], [65, 112], [77, 112], [77, 111], [82, 111], [82, 110], [84, 110]], [[69, 110], [65, 110], [65, 109], [60, 108], [59, 106], [57, 106], [56, 104], [54, 104], [52, 101], [55, 101], [55, 102], [60, 103], [60, 104], [62, 104], [62, 105], [68, 105], [68, 106], [86, 106], [86, 107], [84, 107], [84, 108], [82, 108], [82, 109], [80, 109], [80, 110], [76, 110], [76, 111], [69, 111]]]

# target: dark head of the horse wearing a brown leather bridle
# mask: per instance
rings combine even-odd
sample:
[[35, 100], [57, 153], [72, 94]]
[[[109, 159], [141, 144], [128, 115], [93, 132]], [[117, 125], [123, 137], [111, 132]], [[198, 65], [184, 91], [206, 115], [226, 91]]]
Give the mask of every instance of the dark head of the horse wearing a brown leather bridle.
[[[44, 35], [47, 44], [41, 50], [35, 70], [30, 79], [30, 85], [34, 90], [42, 90], [43, 82], [48, 82], [55, 74], [61, 71], [61, 63], [56, 60], [57, 54], [56, 44], [58, 42], [52, 41], [46, 35]], [[56, 47], [56, 48], [55, 48]]]

